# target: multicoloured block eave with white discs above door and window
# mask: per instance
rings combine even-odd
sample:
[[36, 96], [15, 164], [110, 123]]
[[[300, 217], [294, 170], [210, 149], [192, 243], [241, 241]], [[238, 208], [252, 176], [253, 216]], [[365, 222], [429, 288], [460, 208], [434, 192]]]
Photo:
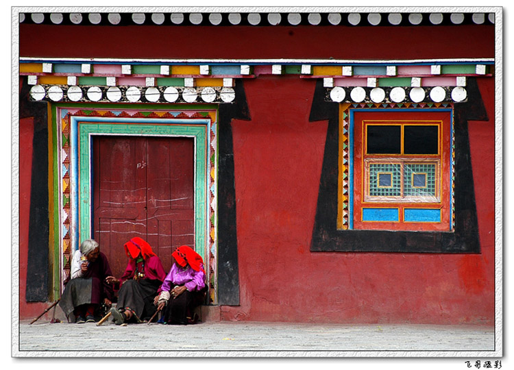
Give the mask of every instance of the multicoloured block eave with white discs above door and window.
[[33, 100], [231, 103], [236, 79], [323, 79], [326, 100], [441, 103], [467, 99], [468, 77], [491, 77], [494, 60], [123, 60], [20, 58]]

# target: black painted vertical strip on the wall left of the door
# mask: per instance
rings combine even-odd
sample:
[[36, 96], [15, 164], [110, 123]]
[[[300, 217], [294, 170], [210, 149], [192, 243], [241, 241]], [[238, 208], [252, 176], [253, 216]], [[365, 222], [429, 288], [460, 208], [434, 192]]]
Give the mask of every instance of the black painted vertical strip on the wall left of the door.
[[[47, 102], [29, 100], [27, 78], [22, 77], [20, 118], [34, 117], [32, 182], [30, 184], [27, 302], [49, 299], [49, 195]], [[24, 148], [20, 148], [22, 151]]]

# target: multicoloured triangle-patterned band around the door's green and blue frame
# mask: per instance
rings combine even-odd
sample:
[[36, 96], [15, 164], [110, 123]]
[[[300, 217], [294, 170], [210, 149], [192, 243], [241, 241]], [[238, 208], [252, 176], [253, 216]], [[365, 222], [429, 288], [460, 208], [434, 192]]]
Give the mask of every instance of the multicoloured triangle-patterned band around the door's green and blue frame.
[[[158, 118], [158, 119], [210, 119], [210, 135], [208, 148], [208, 179], [209, 179], [209, 253], [206, 263], [209, 266], [208, 281], [210, 285], [210, 301], [215, 302], [217, 287], [217, 111], [212, 109], [206, 110], [130, 110], [130, 109], [81, 109], [81, 108], [63, 108], [58, 116], [62, 117], [59, 121], [60, 125], [60, 206], [61, 206], [61, 235], [60, 245], [62, 250], [62, 280], [64, 283], [70, 278], [70, 262], [73, 256], [73, 245], [71, 245], [71, 219], [73, 212], [71, 210], [71, 176], [70, 176], [70, 116], [104, 116], [119, 118]], [[76, 222], [76, 220], [75, 220]], [[61, 286], [63, 288], [63, 286]]]

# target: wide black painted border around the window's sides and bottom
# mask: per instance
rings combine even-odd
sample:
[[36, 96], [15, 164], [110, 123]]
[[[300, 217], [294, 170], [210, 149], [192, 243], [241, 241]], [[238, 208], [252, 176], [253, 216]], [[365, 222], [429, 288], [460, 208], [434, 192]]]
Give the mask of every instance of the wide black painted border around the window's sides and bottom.
[[338, 103], [325, 101], [323, 82], [321, 80], [317, 82], [310, 121], [328, 119], [328, 131], [313, 238], [310, 244], [311, 251], [480, 253], [467, 121], [485, 121], [487, 112], [476, 79], [469, 78], [466, 89], [469, 99], [454, 105], [455, 231], [338, 230], [336, 227], [339, 176]]

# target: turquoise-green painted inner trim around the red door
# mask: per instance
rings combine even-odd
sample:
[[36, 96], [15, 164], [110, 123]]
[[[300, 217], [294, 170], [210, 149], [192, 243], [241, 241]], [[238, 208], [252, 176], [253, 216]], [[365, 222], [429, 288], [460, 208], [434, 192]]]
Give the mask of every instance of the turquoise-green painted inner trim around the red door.
[[[205, 260], [207, 225], [207, 130], [208, 120], [156, 120], [160, 124], [115, 123], [116, 119], [99, 119], [98, 117], [77, 116], [79, 136], [79, 240], [91, 237], [91, 136], [93, 135], [134, 135], [134, 136], [182, 136], [195, 140], [195, 250]], [[101, 121], [106, 121], [102, 123]], [[162, 123], [167, 121], [167, 123]], [[176, 123], [173, 123], [176, 121]]]

